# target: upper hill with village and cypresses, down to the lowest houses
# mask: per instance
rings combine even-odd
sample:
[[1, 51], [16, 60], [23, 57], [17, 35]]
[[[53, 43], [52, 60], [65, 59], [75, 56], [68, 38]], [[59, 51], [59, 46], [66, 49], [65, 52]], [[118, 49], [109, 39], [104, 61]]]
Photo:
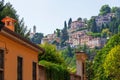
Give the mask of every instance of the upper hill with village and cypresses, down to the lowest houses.
[[[107, 12], [108, 8], [110, 11]], [[68, 23], [64, 22], [63, 29], [56, 29], [53, 34], [46, 35], [42, 42], [55, 44], [59, 49], [68, 45], [73, 48], [79, 45], [102, 48], [107, 39], [120, 32], [119, 9], [103, 5], [98, 16], [92, 16], [90, 20], [78, 18], [76, 21], [72, 21], [70, 18]]]

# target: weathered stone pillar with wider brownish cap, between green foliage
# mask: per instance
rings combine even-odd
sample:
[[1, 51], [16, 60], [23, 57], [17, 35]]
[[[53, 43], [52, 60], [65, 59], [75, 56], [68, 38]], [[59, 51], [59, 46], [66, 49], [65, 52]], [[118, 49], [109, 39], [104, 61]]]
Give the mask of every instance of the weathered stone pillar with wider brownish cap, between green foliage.
[[85, 52], [76, 52], [76, 64], [77, 64], [77, 75], [81, 76], [81, 80], [86, 79], [86, 71], [85, 71], [85, 61], [87, 59], [87, 55]]

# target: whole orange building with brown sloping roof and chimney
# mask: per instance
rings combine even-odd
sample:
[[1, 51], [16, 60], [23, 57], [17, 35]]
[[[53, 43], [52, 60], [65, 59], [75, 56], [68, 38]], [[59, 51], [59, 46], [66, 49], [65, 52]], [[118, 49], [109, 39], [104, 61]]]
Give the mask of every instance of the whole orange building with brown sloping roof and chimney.
[[0, 26], [0, 80], [38, 80], [38, 52], [44, 50], [14, 32], [15, 20]]

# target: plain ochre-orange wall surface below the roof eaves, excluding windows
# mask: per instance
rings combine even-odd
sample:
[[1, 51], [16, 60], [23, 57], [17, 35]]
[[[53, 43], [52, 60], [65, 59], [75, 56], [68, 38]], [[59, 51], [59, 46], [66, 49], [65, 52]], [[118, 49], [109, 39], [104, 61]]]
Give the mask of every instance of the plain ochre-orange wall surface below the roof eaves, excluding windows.
[[5, 45], [8, 53], [4, 53], [4, 80], [17, 80], [18, 56], [23, 58], [23, 80], [32, 80], [32, 62], [38, 63], [38, 52], [0, 34], [0, 49], [5, 49]]

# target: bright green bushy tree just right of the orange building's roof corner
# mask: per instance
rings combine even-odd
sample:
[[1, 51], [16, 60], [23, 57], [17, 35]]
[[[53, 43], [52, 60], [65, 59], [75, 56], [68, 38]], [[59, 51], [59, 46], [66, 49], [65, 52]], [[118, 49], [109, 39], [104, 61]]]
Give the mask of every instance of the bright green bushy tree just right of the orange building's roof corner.
[[39, 55], [39, 61], [45, 60], [55, 64], [63, 64], [63, 58], [60, 56], [60, 52], [57, 50], [55, 45], [44, 43], [40, 45], [44, 50], [44, 55]]

